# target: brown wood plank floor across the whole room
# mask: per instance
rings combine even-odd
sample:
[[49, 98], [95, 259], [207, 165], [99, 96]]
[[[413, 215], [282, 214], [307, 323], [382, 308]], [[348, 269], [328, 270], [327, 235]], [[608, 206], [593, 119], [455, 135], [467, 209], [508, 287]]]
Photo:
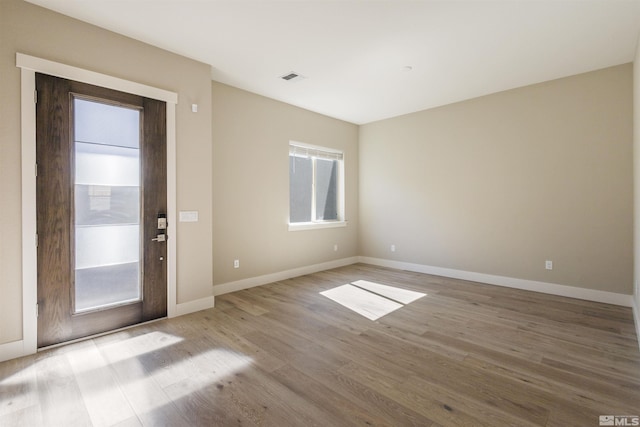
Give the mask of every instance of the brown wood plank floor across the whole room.
[[[426, 296], [369, 320], [320, 292]], [[0, 425], [598, 426], [640, 415], [629, 308], [356, 264], [0, 364]]]

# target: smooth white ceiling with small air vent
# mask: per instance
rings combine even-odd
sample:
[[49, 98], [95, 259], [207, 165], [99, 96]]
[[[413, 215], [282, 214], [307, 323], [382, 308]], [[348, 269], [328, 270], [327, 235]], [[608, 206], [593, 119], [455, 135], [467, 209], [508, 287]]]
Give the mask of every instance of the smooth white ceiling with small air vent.
[[28, 1], [356, 124], [631, 62], [640, 31], [640, 0]]

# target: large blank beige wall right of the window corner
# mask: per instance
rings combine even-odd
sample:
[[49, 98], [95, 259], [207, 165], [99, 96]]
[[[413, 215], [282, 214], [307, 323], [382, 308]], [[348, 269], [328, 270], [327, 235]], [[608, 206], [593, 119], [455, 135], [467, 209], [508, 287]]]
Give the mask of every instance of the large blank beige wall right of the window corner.
[[631, 294], [632, 123], [627, 64], [364, 125], [361, 255]]

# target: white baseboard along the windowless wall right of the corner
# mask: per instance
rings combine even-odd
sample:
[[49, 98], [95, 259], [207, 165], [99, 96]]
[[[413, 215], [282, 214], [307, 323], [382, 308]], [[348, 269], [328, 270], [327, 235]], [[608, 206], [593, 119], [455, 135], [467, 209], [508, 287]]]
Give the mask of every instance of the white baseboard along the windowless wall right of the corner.
[[[395, 268], [398, 270], [413, 271], [416, 273], [433, 274], [453, 279], [469, 280], [472, 282], [487, 283], [490, 285], [504, 286], [508, 288], [523, 289], [527, 291], [541, 292], [544, 294], [558, 295], [569, 298], [577, 298], [587, 301], [615, 304], [625, 307], [633, 307], [633, 296], [618, 294], [615, 292], [599, 291], [595, 289], [578, 288], [575, 286], [558, 285], [555, 283], [538, 282], [535, 280], [517, 279], [514, 277], [494, 276], [491, 274], [474, 273], [472, 271], [454, 270], [450, 268], [433, 267], [430, 265], [413, 264], [408, 262], [393, 261], [381, 258], [359, 257], [359, 262], [378, 265], [381, 267]], [[638, 325], [636, 319], [636, 326]]]

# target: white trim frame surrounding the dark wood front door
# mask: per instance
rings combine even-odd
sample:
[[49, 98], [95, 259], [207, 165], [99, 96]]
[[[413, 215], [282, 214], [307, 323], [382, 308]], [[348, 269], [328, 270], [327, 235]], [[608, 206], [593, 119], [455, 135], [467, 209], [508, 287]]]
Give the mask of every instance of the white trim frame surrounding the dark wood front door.
[[36, 108], [34, 94], [36, 72], [75, 80], [108, 89], [128, 92], [159, 101], [167, 106], [167, 316], [177, 315], [176, 299], [176, 105], [178, 94], [129, 80], [96, 73], [78, 67], [16, 54], [16, 66], [21, 69], [21, 144], [22, 144], [22, 355], [38, 351], [38, 271], [36, 248]]

